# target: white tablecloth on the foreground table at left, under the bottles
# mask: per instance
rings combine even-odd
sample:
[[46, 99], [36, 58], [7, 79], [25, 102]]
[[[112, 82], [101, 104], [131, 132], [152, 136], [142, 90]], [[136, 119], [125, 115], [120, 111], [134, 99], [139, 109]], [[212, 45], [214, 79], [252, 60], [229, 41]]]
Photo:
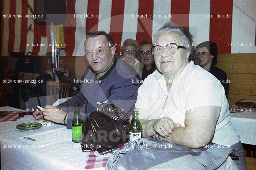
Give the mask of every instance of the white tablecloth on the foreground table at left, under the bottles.
[[[1, 107], [0, 110], [22, 111], [12, 107]], [[82, 152], [80, 143], [72, 142], [70, 129], [63, 128], [65, 126], [60, 124], [44, 126], [31, 131], [16, 129], [17, 124], [25, 122], [38, 122], [38, 120], [34, 119], [32, 115], [25, 115], [15, 122], [0, 123], [2, 170], [84, 169], [89, 152]], [[53, 140], [46, 145], [38, 145], [38, 143], [37, 145], [32, 145], [32, 141], [23, 139], [23, 137], [36, 136], [36, 134], [40, 135], [40, 133], [52, 135], [52, 130], [55, 129], [65, 131], [70, 135], [69, 137], [64, 136], [61, 139]]]

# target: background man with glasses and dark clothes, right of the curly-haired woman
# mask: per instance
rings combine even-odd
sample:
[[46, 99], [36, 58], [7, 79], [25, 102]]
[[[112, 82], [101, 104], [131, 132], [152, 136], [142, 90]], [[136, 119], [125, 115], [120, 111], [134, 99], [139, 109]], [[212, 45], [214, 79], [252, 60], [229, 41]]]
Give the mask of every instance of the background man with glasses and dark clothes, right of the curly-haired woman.
[[157, 67], [154, 62], [154, 55], [151, 52], [152, 43], [142, 41], [140, 45], [139, 55], [142, 63], [135, 64], [134, 68], [142, 78], [146, 79], [148, 75], [152, 74]]

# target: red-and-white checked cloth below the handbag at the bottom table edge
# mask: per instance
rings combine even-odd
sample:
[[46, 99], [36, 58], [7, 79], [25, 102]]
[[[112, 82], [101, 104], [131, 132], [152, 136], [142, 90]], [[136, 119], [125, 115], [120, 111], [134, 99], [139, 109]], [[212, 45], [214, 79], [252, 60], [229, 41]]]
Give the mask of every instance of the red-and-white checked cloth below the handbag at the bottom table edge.
[[[125, 145], [120, 146], [118, 150], [121, 150], [124, 148]], [[105, 168], [108, 159], [110, 157], [97, 157], [94, 155], [94, 152], [90, 152], [90, 154], [87, 156], [86, 159], [86, 165], [84, 166], [84, 169], [95, 169], [95, 168]]]

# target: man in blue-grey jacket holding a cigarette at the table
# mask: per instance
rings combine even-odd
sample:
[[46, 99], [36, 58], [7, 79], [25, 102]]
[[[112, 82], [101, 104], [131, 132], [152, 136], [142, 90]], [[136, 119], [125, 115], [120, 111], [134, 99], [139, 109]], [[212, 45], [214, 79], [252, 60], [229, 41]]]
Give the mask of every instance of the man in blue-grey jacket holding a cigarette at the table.
[[131, 115], [137, 99], [139, 84], [135, 82], [138, 82], [138, 74], [131, 66], [114, 56], [116, 47], [113, 44], [112, 37], [105, 31], [88, 33], [84, 47], [90, 67], [85, 72], [81, 91], [57, 106], [67, 108], [67, 112], [60, 109], [59, 112], [54, 112], [53, 108], [56, 107], [45, 106], [43, 112], [33, 113], [34, 118], [44, 117], [56, 123], [66, 124], [70, 129], [76, 102], [82, 106], [82, 119], [108, 103], [115, 104]]

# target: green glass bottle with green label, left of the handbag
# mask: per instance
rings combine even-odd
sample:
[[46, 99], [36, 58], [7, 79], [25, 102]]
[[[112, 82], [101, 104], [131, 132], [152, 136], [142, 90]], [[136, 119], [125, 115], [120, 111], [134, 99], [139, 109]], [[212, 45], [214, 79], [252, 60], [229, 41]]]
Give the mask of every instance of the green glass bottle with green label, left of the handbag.
[[75, 104], [75, 112], [74, 117], [72, 120], [72, 141], [73, 142], [80, 142], [81, 141], [81, 135], [82, 135], [82, 126], [83, 126], [83, 120], [80, 115], [80, 108], [79, 104]]

